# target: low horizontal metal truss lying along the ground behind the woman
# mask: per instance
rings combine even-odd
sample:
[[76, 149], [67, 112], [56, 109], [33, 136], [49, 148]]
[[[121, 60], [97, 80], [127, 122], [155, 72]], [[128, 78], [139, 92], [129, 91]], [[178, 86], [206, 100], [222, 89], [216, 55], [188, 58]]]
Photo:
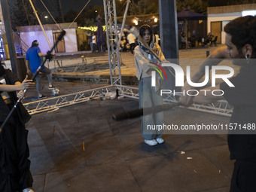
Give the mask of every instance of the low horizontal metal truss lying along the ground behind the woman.
[[[67, 94], [63, 96], [56, 96], [50, 99], [42, 99], [35, 102], [29, 102], [23, 104], [29, 114], [38, 114], [46, 111], [56, 111], [59, 108], [67, 107], [70, 105], [76, 105], [81, 102], [90, 102], [97, 99], [104, 99], [103, 95], [105, 93], [118, 93], [120, 96], [132, 98], [132, 99], [139, 99], [139, 88], [138, 87], [128, 87], [122, 85], [113, 85], [113, 86], [106, 86], [106, 87], [99, 87], [92, 90], [85, 90], [78, 93]], [[163, 98], [163, 103], [172, 103], [178, 102], [177, 98], [171, 94], [167, 95]], [[227, 117], [233, 112], [233, 107], [230, 106], [227, 101], [220, 100], [218, 102], [208, 104], [208, 105], [200, 105], [200, 104], [193, 104], [190, 109], [208, 112], [212, 114], [221, 114]]]

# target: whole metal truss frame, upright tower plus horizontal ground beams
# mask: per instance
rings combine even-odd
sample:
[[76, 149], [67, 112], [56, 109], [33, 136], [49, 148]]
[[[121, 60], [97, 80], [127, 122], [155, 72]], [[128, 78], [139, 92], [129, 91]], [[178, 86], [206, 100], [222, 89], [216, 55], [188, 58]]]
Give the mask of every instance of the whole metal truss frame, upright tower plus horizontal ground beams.
[[[117, 18], [115, 0], [103, 0], [105, 11], [106, 35], [108, 42], [108, 59], [110, 68], [111, 85], [106, 87], [99, 87], [92, 90], [85, 90], [78, 93], [71, 93], [63, 96], [56, 96], [50, 99], [38, 100], [35, 102], [28, 102], [23, 104], [29, 111], [29, 114], [38, 114], [46, 111], [56, 111], [59, 108], [76, 105], [81, 102], [90, 102], [96, 99], [105, 99], [105, 93], [118, 93], [120, 96], [132, 99], [139, 99], [139, 88], [123, 86], [120, 72], [120, 53], [117, 46]], [[128, 7], [128, 5], [127, 5]], [[178, 102], [177, 96], [172, 94], [165, 94], [163, 96], [163, 103], [168, 104]], [[220, 100], [215, 103], [200, 105], [193, 104], [190, 109], [209, 112], [212, 114], [221, 114], [230, 117], [233, 112], [233, 107], [225, 100]]]

